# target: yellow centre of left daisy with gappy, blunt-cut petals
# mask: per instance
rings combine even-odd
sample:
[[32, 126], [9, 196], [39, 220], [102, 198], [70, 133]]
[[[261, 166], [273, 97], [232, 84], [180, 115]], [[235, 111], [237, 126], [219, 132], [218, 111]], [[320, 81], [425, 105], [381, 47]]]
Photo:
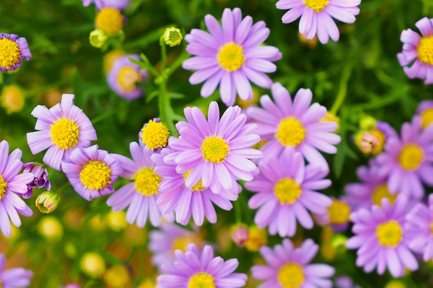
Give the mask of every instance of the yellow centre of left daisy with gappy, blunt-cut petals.
[[80, 128], [73, 120], [63, 116], [51, 124], [50, 134], [53, 144], [66, 150], [77, 145]]

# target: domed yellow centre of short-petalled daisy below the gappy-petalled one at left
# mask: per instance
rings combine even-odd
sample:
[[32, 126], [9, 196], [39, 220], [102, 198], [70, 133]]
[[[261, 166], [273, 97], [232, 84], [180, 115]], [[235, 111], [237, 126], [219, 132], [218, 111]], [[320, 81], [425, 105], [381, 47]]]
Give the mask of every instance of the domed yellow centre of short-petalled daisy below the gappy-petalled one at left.
[[109, 166], [104, 162], [91, 160], [83, 166], [80, 181], [84, 188], [100, 190], [111, 184], [111, 172]]

